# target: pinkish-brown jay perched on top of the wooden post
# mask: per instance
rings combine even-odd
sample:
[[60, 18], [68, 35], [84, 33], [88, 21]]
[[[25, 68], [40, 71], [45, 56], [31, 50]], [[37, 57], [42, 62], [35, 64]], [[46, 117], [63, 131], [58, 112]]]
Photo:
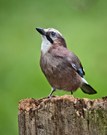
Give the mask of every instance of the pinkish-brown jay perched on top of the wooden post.
[[80, 88], [86, 94], [97, 91], [85, 80], [85, 71], [79, 58], [67, 48], [63, 35], [54, 28], [36, 28], [42, 37], [40, 67], [54, 91], [75, 92]]

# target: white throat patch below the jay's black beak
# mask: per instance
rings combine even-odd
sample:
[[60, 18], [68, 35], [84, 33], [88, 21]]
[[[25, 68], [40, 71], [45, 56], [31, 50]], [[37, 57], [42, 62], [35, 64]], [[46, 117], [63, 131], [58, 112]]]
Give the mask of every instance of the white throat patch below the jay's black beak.
[[41, 51], [45, 54], [51, 47], [51, 43], [47, 40], [45, 36], [42, 36]]

